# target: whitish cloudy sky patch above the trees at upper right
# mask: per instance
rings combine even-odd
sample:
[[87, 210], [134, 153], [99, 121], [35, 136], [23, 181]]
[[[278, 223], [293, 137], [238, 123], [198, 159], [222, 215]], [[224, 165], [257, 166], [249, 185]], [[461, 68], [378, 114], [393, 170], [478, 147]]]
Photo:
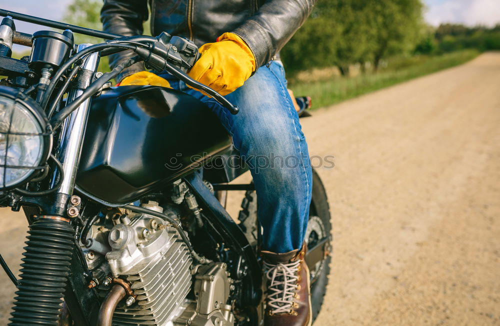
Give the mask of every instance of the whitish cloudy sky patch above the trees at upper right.
[[500, 0], [426, 0], [425, 20], [493, 26], [500, 23]]

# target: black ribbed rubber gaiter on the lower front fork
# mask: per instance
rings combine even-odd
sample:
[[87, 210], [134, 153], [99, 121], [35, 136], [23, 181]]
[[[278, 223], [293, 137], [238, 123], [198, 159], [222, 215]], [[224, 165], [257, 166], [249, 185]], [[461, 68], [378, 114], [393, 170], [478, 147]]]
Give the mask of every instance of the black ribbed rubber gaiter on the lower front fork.
[[63, 220], [40, 218], [29, 226], [9, 326], [58, 324], [71, 264], [74, 230]]

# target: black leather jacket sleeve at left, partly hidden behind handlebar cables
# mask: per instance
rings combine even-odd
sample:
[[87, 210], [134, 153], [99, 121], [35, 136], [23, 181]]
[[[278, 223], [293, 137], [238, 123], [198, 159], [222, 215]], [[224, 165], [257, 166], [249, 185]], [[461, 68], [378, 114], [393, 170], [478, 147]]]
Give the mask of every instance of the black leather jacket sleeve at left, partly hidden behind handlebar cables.
[[[100, 20], [104, 31], [133, 36], [142, 34], [142, 23], [147, 20], [147, 0], [104, 0], [100, 10]], [[109, 55], [112, 69], [123, 59], [134, 56], [131, 50]], [[144, 70], [144, 63], [137, 62], [124, 69], [116, 80], [120, 81], [132, 73]]]

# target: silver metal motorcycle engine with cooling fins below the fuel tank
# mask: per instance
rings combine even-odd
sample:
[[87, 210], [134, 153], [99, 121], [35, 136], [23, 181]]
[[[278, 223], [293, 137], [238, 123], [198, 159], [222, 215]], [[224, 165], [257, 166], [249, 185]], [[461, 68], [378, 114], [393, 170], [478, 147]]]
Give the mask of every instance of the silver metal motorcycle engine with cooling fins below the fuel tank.
[[[163, 211], [154, 201], [141, 206]], [[226, 304], [231, 279], [225, 263], [193, 264], [178, 231], [159, 217], [122, 214], [113, 222], [110, 229], [93, 225], [91, 245], [82, 246], [94, 278], [105, 277], [97, 287], [102, 296], [113, 282], [131, 292], [116, 307], [113, 325], [234, 323]], [[194, 295], [188, 296], [191, 289]]]

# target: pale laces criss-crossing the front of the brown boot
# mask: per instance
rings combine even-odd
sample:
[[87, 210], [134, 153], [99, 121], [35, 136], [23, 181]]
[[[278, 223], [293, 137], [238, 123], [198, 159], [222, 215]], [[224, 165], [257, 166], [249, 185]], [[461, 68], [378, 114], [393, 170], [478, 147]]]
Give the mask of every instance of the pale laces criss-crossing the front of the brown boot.
[[297, 290], [298, 265], [300, 260], [290, 263], [270, 264], [264, 261], [267, 286], [267, 306], [271, 313], [290, 312]]

